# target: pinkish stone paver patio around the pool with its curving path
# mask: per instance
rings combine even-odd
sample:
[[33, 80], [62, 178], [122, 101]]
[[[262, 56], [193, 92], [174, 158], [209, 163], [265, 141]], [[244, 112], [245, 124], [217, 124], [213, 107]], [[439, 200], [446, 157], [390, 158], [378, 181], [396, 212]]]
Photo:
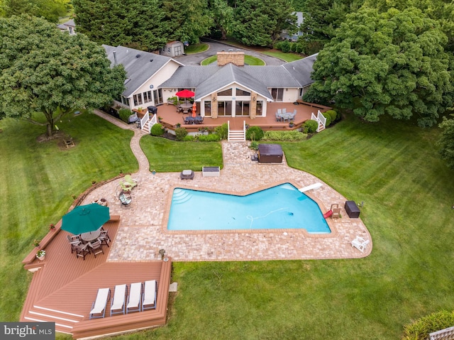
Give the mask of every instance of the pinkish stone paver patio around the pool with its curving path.
[[[159, 258], [165, 249], [173, 261], [260, 261], [322, 258], [361, 258], [372, 251], [369, 231], [360, 219], [349, 219], [343, 210], [347, 200], [325, 183], [320, 189], [306, 192], [319, 203], [322, 212], [331, 204], [342, 207], [341, 219], [328, 219], [331, 234], [308, 234], [304, 229], [270, 231], [167, 231], [167, 218], [174, 187], [204, 189], [214, 192], [255, 192], [283, 182], [305, 187], [321, 182], [287, 163], [259, 164], [250, 160], [253, 151], [248, 143], [224, 141], [220, 177], [202, 177], [196, 172], [194, 180], [180, 180], [179, 172], [150, 172], [148, 159], [140, 149], [139, 140], [145, 134], [135, 126], [115, 119], [101, 111], [95, 112], [121, 128], [134, 131], [131, 149], [138, 159], [139, 171], [133, 174], [139, 185], [131, 195], [133, 202], [123, 206], [116, 192], [120, 180], [114, 180], [90, 192], [83, 204], [106, 198], [111, 214], [121, 216], [120, 228], [111, 243], [109, 261], [150, 261]], [[351, 246], [355, 236], [371, 240], [365, 253]]]

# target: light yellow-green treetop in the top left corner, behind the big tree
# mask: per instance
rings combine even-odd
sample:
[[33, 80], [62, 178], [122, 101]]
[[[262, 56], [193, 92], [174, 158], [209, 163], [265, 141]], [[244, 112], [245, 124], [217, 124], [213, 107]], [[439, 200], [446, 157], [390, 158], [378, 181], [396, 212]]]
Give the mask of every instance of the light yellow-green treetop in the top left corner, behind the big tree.
[[43, 16], [52, 23], [57, 23], [60, 16], [65, 16], [71, 8], [69, 0], [3, 0], [1, 16], [29, 14]]

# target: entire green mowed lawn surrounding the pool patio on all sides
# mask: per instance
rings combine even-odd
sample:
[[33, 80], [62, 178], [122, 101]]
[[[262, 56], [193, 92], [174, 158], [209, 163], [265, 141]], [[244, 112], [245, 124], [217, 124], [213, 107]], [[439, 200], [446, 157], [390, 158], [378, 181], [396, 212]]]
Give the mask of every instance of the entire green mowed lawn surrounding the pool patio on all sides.
[[[131, 131], [83, 114], [59, 127], [77, 147], [35, 143], [42, 128], [0, 121], [0, 319], [18, 319], [30, 275], [21, 260], [71, 194], [134, 171]], [[282, 143], [289, 165], [364, 201], [370, 256], [352, 260], [174, 263], [178, 285], [165, 327], [116, 339], [399, 339], [404, 324], [453, 309], [454, 172], [438, 159], [436, 128], [382, 119], [341, 121], [308, 141]], [[218, 143], [146, 136], [157, 171], [220, 163]], [[194, 154], [188, 154], [194, 150]], [[265, 165], [264, 165], [265, 166]], [[66, 339], [67, 336], [58, 336]]]

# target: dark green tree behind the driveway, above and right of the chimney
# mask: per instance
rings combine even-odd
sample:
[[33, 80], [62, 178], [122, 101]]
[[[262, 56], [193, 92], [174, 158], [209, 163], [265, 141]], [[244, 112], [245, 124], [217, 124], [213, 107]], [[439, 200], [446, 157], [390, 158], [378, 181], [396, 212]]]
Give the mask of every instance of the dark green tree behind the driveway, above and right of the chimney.
[[287, 0], [244, 0], [234, 13], [233, 35], [245, 45], [268, 46], [282, 31], [297, 31], [297, 17]]

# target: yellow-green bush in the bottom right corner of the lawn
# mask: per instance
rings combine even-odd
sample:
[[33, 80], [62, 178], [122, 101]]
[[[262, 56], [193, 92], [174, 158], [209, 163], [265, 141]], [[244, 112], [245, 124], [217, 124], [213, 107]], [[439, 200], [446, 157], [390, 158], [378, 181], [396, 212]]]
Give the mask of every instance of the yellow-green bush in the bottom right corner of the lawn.
[[440, 331], [448, 327], [452, 327], [454, 324], [454, 312], [448, 312], [442, 310], [428, 315], [427, 317], [421, 317], [412, 324], [406, 324], [404, 326], [404, 340], [425, 340], [429, 338], [430, 333], [433, 331]]

